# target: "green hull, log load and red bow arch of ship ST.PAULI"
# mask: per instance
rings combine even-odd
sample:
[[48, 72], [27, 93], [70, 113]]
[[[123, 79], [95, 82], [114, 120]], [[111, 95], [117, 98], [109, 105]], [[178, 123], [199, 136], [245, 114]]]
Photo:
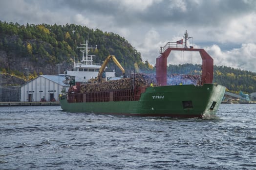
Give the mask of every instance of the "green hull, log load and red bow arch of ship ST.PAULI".
[[[213, 58], [204, 49], [187, 47], [187, 31], [183, 38], [185, 46], [179, 47], [180, 44], [184, 44], [182, 39], [182, 42], [168, 42], [164, 47], [160, 47], [160, 56], [156, 58], [155, 75], [131, 73], [129, 78], [102, 81], [102, 68], [95, 80], [96, 83], [72, 85], [66, 94], [60, 96], [62, 109], [68, 112], [128, 116], [215, 116], [226, 87], [213, 84]], [[167, 58], [171, 51], [199, 51], [202, 58], [202, 75], [195, 83], [181, 82], [169, 85]], [[111, 55], [108, 56], [108, 59], [110, 58]]]

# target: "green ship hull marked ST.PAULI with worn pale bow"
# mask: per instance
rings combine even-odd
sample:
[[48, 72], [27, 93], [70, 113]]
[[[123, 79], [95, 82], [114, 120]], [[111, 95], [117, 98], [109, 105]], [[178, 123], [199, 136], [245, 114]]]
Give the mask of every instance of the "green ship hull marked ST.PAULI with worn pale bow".
[[61, 96], [60, 103], [68, 112], [205, 118], [215, 116], [224, 93], [222, 85], [167, 85], [146, 88], [138, 101], [68, 102]]

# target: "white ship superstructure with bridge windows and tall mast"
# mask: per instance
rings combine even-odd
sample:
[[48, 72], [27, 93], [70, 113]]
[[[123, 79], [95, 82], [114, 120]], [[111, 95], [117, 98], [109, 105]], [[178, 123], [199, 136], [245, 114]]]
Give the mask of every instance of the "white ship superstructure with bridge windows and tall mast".
[[[97, 49], [96, 47], [88, 47], [88, 41], [86, 39], [85, 44], [80, 44], [80, 48], [83, 53], [81, 62], [74, 63], [73, 70], [64, 71], [65, 76], [74, 76], [75, 82], [87, 82], [91, 78], [98, 76], [99, 69], [101, 68], [101, 63], [93, 63], [93, 56], [88, 55], [89, 49]], [[86, 54], [86, 55], [84, 55]], [[115, 72], [106, 72], [106, 78], [115, 77]]]

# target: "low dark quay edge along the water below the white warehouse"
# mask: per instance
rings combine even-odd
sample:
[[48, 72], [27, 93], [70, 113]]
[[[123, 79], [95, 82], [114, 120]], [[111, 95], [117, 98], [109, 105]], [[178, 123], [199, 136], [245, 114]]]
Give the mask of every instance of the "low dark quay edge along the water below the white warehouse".
[[0, 102], [0, 106], [51, 106], [60, 102]]

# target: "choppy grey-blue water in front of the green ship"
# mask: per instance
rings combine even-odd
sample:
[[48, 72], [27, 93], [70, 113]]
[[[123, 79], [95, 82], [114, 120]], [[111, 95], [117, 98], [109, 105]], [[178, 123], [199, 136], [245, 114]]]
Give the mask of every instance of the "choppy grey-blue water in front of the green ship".
[[213, 119], [0, 107], [0, 169], [256, 170], [256, 104], [221, 104]]

